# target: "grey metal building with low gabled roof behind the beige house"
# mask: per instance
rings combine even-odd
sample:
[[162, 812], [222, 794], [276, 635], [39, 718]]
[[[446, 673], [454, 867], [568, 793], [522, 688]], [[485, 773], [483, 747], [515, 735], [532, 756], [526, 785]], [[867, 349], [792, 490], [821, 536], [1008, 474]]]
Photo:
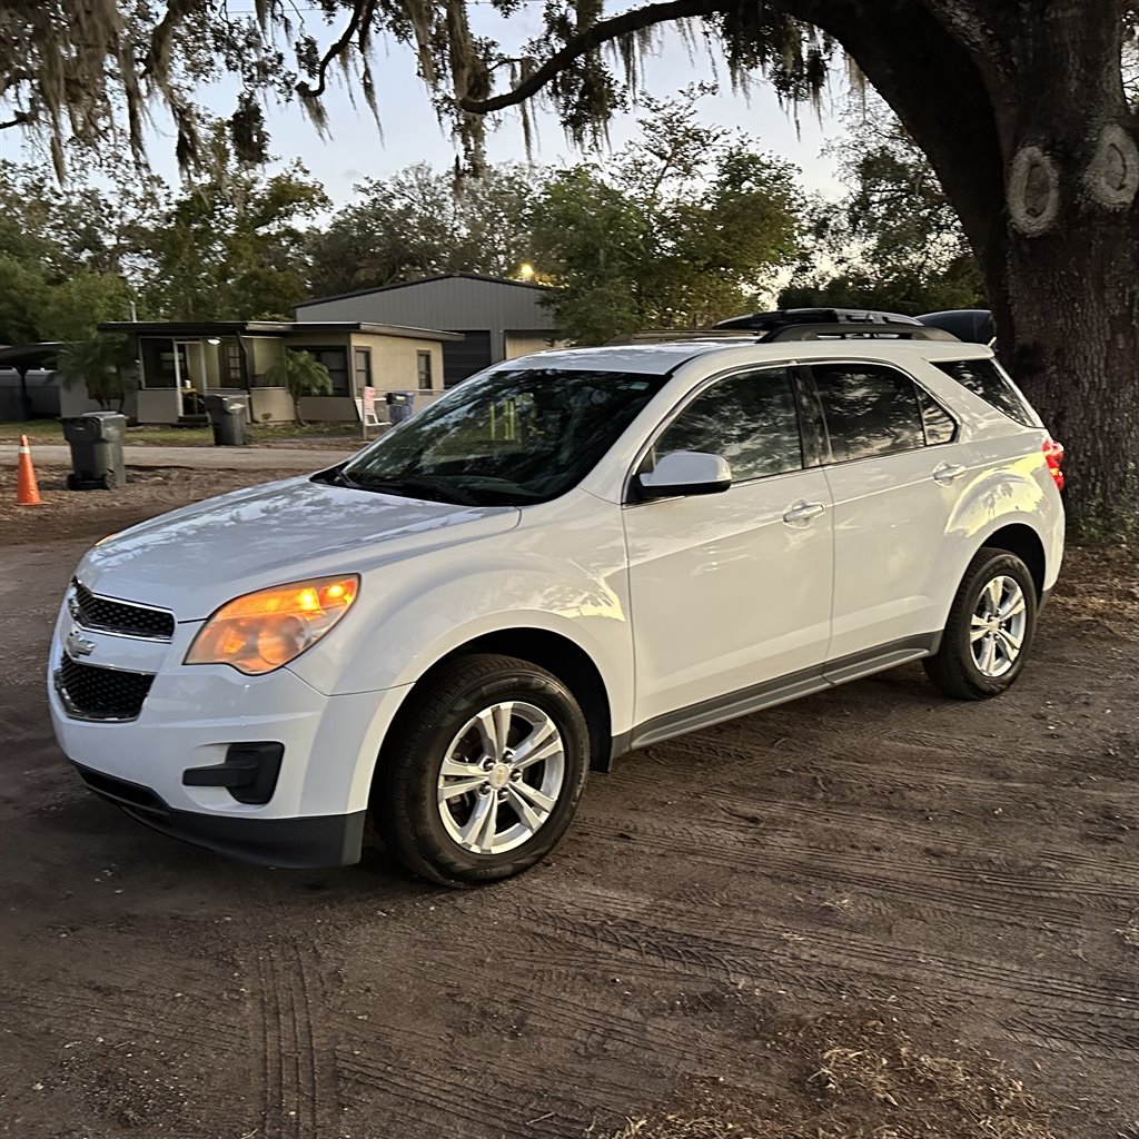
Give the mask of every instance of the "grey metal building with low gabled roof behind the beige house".
[[541, 298], [544, 285], [476, 273], [425, 277], [402, 285], [360, 289], [306, 301], [300, 321], [361, 320], [462, 333], [443, 345], [443, 383], [458, 384], [500, 360], [542, 352], [557, 342]]

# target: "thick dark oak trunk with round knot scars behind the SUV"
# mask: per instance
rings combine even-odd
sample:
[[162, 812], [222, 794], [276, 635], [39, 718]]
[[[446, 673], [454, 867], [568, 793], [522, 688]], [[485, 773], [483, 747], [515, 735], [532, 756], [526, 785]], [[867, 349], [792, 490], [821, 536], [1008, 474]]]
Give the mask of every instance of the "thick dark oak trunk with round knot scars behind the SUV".
[[1067, 449], [1075, 532], [1133, 532], [1139, 116], [1116, 7], [898, 0], [887, 36], [869, 3], [782, 2], [843, 43], [937, 172], [984, 270], [1001, 361]]

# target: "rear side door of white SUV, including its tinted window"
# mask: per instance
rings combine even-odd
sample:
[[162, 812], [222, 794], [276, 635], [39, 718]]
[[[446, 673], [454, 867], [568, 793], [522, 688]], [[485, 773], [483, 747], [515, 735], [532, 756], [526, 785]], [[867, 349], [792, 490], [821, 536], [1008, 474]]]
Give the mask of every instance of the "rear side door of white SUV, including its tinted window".
[[834, 501], [828, 661], [923, 647], [943, 628], [958, 584], [947, 572], [947, 532], [972, 451], [949, 411], [893, 364], [828, 361], [809, 371]]

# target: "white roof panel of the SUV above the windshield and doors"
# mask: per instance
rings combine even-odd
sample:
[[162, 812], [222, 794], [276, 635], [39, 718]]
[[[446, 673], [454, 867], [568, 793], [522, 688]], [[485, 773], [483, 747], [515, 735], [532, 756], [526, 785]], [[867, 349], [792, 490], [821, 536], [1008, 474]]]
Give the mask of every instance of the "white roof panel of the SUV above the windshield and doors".
[[592, 349], [555, 349], [506, 360], [495, 370], [511, 368], [552, 368], [568, 371], [640, 372], [663, 376], [681, 364], [703, 358], [731, 353], [732, 363], [798, 360], [882, 360], [900, 357], [921, 360], [974, 360], [991, 357], [982, 344], [957, 341], [906, 341], [854, 337], [834, 341], [778, 341], [760, 344], [747, 337], [710, 337], [706, 341], [665, 341], [653, 344], [620, 344]]

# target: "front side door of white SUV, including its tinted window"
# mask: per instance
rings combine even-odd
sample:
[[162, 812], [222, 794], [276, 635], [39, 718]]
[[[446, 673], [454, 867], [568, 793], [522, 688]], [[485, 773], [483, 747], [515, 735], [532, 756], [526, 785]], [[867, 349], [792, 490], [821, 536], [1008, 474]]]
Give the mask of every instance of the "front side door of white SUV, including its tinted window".
[[630, 503], [636, 722], [817, 672], [830, 633], [826, 476], [804, 468], [790, 368], [714, 382], [655, 442], [728, 460], [730, 490]]

